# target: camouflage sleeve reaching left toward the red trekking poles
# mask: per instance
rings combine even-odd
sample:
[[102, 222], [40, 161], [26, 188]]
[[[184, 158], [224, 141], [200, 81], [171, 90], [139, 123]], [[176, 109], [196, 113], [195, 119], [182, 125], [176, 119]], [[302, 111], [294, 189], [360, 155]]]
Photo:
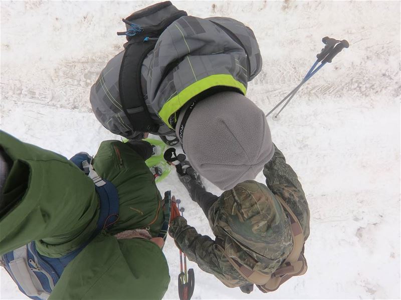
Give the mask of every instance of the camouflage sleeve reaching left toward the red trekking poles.
[[217, 253], [219, 251], [211, 237], [197, 233], [196, 229], [189, 226], [182, 216], [171, 221], [168, 233], [188, 259], [196, 262], [202, 270], [218, 277], [223, 274], [219, 262], [223, 253]]

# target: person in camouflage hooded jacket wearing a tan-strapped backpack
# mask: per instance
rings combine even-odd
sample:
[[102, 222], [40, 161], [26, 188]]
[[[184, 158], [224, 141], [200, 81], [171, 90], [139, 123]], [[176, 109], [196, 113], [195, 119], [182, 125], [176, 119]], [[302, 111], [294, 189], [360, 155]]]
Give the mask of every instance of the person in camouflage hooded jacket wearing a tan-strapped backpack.
[[213, 240], [198, 234], [182, 216], [172, 219], [168, 232], [189, 260], [246, 293], [254, 283], [264, 292], [273, 291], [306, 271], [308, 203], [296, 173], [277, 147], [263, 169], [267, 186], [247, 180], [220, 197], [206, 191], [200, 176], [187, 161], [181, 164], [185, 163], [179, 179], [202, 207], [216, 236]]

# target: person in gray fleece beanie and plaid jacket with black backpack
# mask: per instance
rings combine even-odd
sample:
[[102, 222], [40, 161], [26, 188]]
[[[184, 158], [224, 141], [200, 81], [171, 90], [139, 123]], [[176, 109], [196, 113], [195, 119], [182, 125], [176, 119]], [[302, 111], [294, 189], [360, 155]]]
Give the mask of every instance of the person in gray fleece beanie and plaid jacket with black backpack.
[[193, 168], [222, 189], [255, 178], [274, 151], [263, 111], [245, 96], [262, 69], [252, 29], [229, 17], [189, 16], [169, 1], [123, 21], [128, 42], [90, 92], [102, 125], [128, 139], [149, 132], [183, 142]]

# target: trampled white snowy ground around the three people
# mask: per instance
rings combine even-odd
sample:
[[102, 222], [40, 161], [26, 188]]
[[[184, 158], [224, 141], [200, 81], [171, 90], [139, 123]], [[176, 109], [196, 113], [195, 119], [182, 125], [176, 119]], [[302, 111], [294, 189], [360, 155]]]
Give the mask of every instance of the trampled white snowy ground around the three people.
[[[121, 18], [151, 3], [1, 1], [2, 129], [67, 157], [117, 138], [91, 112], [89, 89], [122, 49], [123, 37], [115, 34], [124, 28]], [[323, 36], [350, 42], [279, 120], [269, 118], [310, 205], [307, 273], [274, 293], [246, 295], [189, 263], [192, 298], [399, 298], [400, 2], [173, 3], [188, 14], [230, 16], [254, 29], [264, 67], [248, 96], [265, 111], [302, 79]], [[212, 234], [174, 173], [159, 188], [171, 189], [189, 223]], [[165, 255], [171, 275], [165, 298], [177, 298], [178, 250], [170, 238]], [[0, 291], [2, 299], [26, 298], [4, 269]]]

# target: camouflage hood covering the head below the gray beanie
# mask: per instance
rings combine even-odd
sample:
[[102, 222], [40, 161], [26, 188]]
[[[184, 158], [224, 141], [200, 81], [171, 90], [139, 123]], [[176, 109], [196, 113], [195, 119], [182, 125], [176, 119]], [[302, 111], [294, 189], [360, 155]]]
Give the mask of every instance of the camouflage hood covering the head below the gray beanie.
[[253, 270], [275, 271], [292, 250], [286, 212], [270, 189], [254, 180], [223, 192], [209, 210], [226, 252]]

